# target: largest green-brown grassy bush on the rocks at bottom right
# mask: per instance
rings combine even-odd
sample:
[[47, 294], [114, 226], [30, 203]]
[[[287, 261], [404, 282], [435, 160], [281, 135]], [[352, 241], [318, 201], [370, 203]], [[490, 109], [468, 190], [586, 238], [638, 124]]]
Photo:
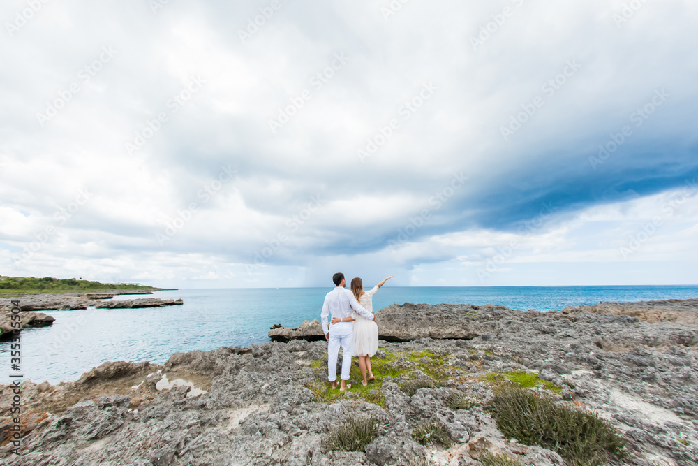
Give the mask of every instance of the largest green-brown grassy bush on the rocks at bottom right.
[[570, 466], [597, 466], [626, 456], [625, 442], [598, 414], [503, 385], [487, 409], [506, 437], [556, 451]]

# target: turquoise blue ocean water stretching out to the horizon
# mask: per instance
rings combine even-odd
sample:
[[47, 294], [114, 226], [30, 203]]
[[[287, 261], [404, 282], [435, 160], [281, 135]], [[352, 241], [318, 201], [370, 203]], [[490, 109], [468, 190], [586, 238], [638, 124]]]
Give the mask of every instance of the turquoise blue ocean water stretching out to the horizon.
[[[331, 289], [181, 289], [154, 293], [156, 298], [182, 298], [179, 306], [50, 311], [56, 319], [52, 326], [21, 334], [22, 373], [25, 379], [56, 384], [77, 380], [105, 361], [164, 363], [179, 351], [267, 342], [275, 323], [297, 327], [305, 319], [320, 319]], [[698, 286], [383, 286], [373, 297], [373, 309], [408, 302], [549, 311], [600, 301], [671, 298], [698, 298]], [[0, 383], [10, 380], [9, 351], [9, 342], [1, 342]]]

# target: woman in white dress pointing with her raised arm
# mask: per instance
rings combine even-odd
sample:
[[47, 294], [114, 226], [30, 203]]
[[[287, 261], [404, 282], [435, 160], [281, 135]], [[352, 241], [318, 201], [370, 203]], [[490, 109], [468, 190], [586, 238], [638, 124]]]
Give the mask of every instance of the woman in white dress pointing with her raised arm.
[[[390, 275], [384, 278], [382, 282], [373, 286], [373, 289], [370, 291], [364, 291], [362, 280], [356, 277], [351, 281], [351, 291], [360, 305], [365, 307], [367, 311], [373, 312], [373, 295], [392, 277]], [[355, 321], [352, 356], [359, 358], [359, 369], [361, 369], [361, 377], [364, 378], [362, 385], [366, 386], [369, 384], [369, 381], [375, 379], [373, 372], [371, 372], [371, 356], [378, 351], [378, 326], [376, 322], [357, 315], [355, 311], [352, 311], [352, 318]], [[346, 319], [344, 321], [346, 322]]]

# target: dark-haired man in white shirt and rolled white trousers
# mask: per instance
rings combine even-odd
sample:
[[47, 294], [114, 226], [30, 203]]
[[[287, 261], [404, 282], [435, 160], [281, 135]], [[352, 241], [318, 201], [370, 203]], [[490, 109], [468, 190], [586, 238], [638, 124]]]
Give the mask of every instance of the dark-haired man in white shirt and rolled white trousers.
[[[325, 332], [325, 340], [327, 340], [327, 376], [332, 382], [332, 388], [337, 388], [337, 356], [339, 355], [339, 346], [342, 347], [342, 375], [341, 375], [341, 391], [351, 388], [346, 381], [349, 380], [349, 370], [351, 369], [351, 351], [352, 337], [354, 333], [354, 324], [351, 321], [344, 321], [351, 317], [351, 310], [355, 310], [358, 314], [373, 320], [374, 316], [371, 312], [364, 309], [362, 305], [357, 303], [354, 293], [344, 288], [346, 279], [343, 273], [336, 273], [332, 276], [332, 282], [336, 288], [325, 296], [325, 304], [322, 305], [322, 330]], [[341, 319], [341, 321], [327, 326], [327, 316], [332, 314], [332, 317]]]

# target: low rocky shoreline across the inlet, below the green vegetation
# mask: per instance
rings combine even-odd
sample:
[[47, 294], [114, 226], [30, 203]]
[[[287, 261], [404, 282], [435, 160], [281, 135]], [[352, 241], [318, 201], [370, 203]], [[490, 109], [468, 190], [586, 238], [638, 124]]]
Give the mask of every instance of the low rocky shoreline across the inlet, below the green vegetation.
[[22, 326], [20, 330], [50, 326], [54, 323], [54, 317], [36, 311], [80, 310], [87, 309], [88, 307], [96, 307], [98, 309], [125, 309], [184, 304], [184, 301], [181, 299], [159, 298], [110, 301], [114, 296], [121, 294], [146, 295], [152, 293], [153, 291], [146, 290], [114, 290], [109, 293], [89, 291], [80, 293], [25, 293], [13, 297], [3, 296], [0, 298], [0, 340], [6, 340], [12, 335], [14, 330], [10, 319], [13, 300], [20, 300], [20, 309], [22, 310], [20, 314], [22, 317]]

